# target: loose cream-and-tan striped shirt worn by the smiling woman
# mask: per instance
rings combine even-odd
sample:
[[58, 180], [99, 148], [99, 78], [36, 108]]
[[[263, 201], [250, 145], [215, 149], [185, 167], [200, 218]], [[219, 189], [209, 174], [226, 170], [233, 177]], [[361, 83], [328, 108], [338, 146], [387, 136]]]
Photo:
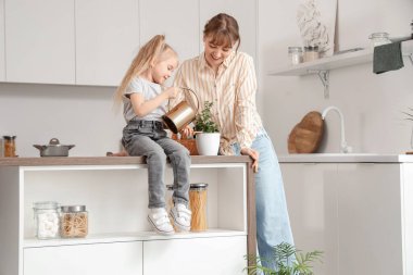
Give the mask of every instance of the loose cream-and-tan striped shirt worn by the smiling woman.
[[[234, 154], [231, 145], [250, 148], [262, 122], [256, 111], [256, 77], [253, 60], [243, 52], [233, 52], [218, 71], [208, 65], [202, 52], [185, 61], [175, 75], [174, 86], [192, 89], [199, 98], [199, 112], [205, 101], [213, 102], [212, 120], [221, 133], [221, 154]], [[180, 95], [172, 105], [180, 102]]]

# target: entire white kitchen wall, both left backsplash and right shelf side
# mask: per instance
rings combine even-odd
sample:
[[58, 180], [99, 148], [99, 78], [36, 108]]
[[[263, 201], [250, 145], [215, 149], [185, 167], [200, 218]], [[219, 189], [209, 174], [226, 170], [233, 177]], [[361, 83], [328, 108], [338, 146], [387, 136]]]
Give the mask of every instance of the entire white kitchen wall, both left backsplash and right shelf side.
[[[345, 114], [347, 139], [354, 151], [400, 153], [410, 149], [412, 124], [401, 114], [413, 101], [413, 66], [408, 60], [404, 68], [381, 75], [372, 73], [372, 64], [331, 71], [330, 98], [325, 100], [316, 76], [267, 75], [288, 63], [288, 46], [300, 43], [295, 12], [298, 0], [255, 1], [259, 111], [279, 154], [287, 152], [288, 134], [306, 112], [331, 104]], [[411, 0], [339, 0], [338, 9], [340, 50], [367, 46], [367, 37], [374, 32], [410, 34]], [[33, 145], [46, 143], [52, 137], [62, 143], [75, 143], [71, 155], [104, 155], [108, 150], [118, 149], [124, 125], [122, 116], [111, 109], [113, 90], [0, 84], [0, 135], [17, 135], [17, 153], [22, 157], [38, 155]], [[338, 122], [336, 114], [328, 115], [326, 152], [338, 151]]]

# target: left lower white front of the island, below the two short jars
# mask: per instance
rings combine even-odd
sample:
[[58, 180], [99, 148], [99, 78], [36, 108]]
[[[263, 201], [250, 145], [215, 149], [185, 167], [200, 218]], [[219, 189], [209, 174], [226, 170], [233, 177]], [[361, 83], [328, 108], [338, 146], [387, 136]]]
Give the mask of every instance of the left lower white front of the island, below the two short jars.
[[114, 242], [24, 249], [24, 275], [139, 275], [142, 243]]

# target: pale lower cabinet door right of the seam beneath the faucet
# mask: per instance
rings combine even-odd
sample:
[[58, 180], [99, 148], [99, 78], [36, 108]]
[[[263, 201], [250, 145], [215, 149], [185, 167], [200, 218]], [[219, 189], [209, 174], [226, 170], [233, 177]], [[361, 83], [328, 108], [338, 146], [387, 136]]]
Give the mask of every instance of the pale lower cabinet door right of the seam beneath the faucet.
[[339, 164], [339, 274], [403, 274], [399, 164]]

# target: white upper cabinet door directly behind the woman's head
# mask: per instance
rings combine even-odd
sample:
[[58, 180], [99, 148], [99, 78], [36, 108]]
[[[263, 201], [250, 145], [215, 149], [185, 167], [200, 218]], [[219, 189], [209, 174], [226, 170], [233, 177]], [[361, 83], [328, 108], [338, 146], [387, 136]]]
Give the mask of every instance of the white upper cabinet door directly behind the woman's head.
[[[239, 25], [241, 36], [240, 50], [256, 58], [256, 3], [251, 0], [211, 1], [200, 0], [200, 34], [202, 38], [203, 27], [212, 16], [218, 13], [227, 13], [234, 16]], [[202, 40], [201, 40], [202, 41]], [[203, 51], [203, 43], [201, 45]]]

